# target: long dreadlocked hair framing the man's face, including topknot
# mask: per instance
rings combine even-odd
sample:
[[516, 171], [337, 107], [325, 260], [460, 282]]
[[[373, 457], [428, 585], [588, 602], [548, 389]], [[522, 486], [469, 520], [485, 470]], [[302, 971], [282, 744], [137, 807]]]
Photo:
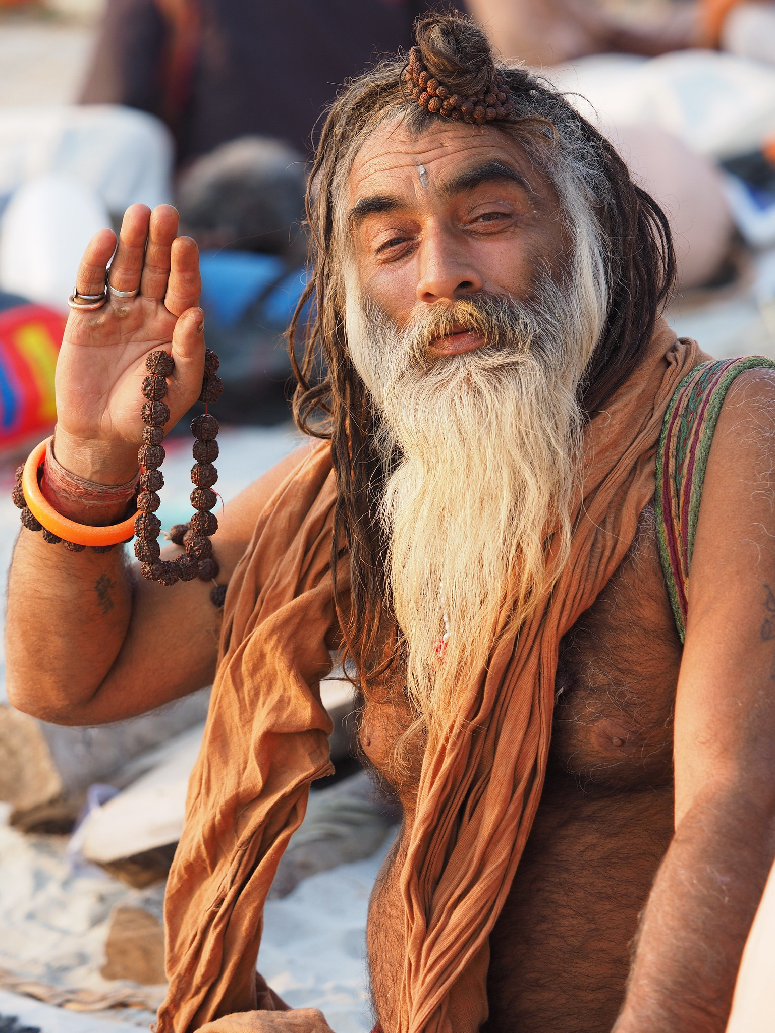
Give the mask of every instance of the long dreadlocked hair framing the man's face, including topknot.
[[[590, 275], [603, 306], [602, 331], [579, 388], [589, 418], [640, 362], [673, 290], [676, 263], [667, 217], [632, 182], [613, 145], [562, 94], [525, 67], [496, 63], [470, 19], [428, 15], [416, 23], [415, 37], [414, 54], [450, 93], [474, 94], [495, 80], [505, 85], [514, 111], [490, 123], [488, 131], [520, 143], [557, 190], [566, 215], [576, 206], [576, 220], [568, 216], [574, 246], [578, 249], [585, 234], [597, 242], [599, 269]], [[339, 564], [349, 558], [348, 598], [335, 588], [336, 606], [345, 656], [353, 659], [364, 691], [400, 656], [378, 518], [383, 486], [398, 458], [385, 462], [377, 450], [377, 413], [348, 354], [343, 198], [355, 155], [375, 129], [400, 122], [420, 135], [445, 121], [412, 99], [406, 68], [400, 55], [381, 61], [347, 83], [328, 112], [307, 189], [310, 276], [288, 332], [296, 421], [306, 434], [331, 439], [337, 476], [335, 586]]]

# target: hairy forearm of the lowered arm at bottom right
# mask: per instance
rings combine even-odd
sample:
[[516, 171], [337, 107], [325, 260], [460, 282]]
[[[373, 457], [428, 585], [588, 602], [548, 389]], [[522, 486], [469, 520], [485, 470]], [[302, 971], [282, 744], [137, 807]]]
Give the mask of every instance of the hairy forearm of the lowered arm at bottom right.
[[768, 808], [729, 790], [687, 812], [646, 907], [615, 1033], [723, 1033], [775, 853]]

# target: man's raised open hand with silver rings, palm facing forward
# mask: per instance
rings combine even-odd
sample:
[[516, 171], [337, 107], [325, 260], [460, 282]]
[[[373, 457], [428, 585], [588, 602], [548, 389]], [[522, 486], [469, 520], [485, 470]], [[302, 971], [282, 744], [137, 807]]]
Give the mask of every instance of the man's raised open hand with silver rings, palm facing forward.
[[[146, 356], [163, 348], [175, 359], [168, 378], [167, 432], [196, 401], [205, 365], [204, 314], [199, 309], [196, 244], [177, 237], [178, 213], [169, 205], [150, 211], [132, 205], [124, 215], [111, 283], [140, 287], [136, 298], [112, 296], [100, 309], [71, 311], [56, 374], [56, 456], [72, 473], [100, 483], [123, 483], [137, 469], [142, 443], [142, 393]], [[102, 290], [116, 247], [113, 230], [90, 241], [79, 268], [80, 294]]]

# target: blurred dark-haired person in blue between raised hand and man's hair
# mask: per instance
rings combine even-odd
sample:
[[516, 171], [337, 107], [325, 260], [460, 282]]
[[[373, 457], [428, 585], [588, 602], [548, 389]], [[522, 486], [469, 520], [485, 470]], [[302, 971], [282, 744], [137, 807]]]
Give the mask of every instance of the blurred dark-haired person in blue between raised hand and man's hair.
[[283, 334], [306, 283], [306, 168], [281, 140], [243, 136], [188, 166], [178, 187], [184, 232], [200, 249], [202, 306], [221, 359], [231, 422], [288, 414]]

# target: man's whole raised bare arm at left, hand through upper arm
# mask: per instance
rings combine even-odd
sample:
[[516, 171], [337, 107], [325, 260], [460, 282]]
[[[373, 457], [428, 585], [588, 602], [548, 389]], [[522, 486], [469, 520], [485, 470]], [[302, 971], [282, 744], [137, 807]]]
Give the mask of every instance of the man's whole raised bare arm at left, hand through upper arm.
[[[78, 524], [110, 526], [131, 509], [148, 356], [159, 349], [174, 356], [165, 431], [202, 392], [198, 255], [177, 231], [175, 209], [133, 205], [118, 246], [112, 230], [100, 230], [79, 267], [75, 290], [89, 298], [104, 291], [110, 260], [112, 292], [98, 309], [74, 309], [68, 318], [57, 361], [56, 441], [40, 482], [48, 505]], [[250, 534], [241, 530], [238, 542], [216, 537], [218, 577], [226, 582]], [[121, 547], [70, 553], [22, 531], [8, 586], [11, 702], [61, 724], [100, 724], [212, 681], [221, 613], [212, 584], [146, 581], [130, 555]]]

